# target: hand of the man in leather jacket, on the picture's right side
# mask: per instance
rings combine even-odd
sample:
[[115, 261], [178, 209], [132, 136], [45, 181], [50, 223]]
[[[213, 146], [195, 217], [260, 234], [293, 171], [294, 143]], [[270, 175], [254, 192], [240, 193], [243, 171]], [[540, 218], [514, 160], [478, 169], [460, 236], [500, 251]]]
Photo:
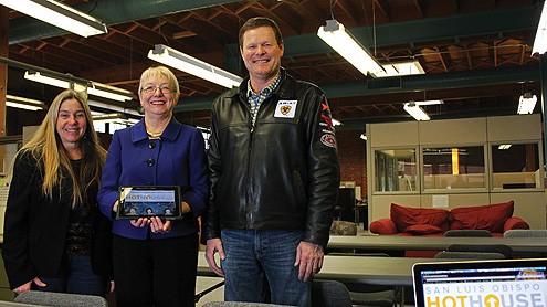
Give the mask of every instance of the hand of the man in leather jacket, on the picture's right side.
[[302, 241], [296, 247], [296, 261], [294, 266], [298, 266], [298, 279], [307, 282], [309, 277], [319, 273], [323, 267], [323, 247]]

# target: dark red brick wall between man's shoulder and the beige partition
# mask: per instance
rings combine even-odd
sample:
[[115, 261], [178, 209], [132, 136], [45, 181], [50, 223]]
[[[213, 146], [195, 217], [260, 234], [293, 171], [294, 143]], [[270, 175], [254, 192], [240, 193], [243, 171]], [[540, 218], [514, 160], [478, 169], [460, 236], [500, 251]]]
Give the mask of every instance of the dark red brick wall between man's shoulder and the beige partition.
[[361, 197], [367, 194], [367, 144], [360, 139], [361, 131], [336, 131], [338, 157], [340, 160], [340, 180], [355, 181], [361, 187]]

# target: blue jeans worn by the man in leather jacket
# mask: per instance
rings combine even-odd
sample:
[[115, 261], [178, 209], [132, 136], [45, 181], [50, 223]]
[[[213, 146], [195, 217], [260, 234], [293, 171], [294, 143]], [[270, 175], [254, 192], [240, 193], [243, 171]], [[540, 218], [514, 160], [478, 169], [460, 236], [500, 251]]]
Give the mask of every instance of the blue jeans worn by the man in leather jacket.
[[265, 303], [270, 294], [273, 304], [311, 306], [312, 280], [299, 280], [294, 266], [302, 234], [294, 230], [222, 230], [224, 300]]

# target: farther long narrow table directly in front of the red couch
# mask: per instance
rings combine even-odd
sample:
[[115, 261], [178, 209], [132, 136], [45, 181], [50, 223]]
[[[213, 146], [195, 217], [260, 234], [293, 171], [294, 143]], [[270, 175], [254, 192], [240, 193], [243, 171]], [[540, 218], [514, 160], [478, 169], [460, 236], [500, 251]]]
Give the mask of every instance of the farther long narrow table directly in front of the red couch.
[[327, 248], [442, 251], [451, 244], [505, 244], [513, 252], [547, 253], [547, 237], [455, 237], [399, 235], [330, 235]]

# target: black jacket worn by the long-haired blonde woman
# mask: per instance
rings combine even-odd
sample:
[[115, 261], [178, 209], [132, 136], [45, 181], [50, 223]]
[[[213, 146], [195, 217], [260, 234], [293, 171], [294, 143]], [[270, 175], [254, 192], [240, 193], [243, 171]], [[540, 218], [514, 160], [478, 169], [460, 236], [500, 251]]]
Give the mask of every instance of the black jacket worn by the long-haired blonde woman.
[[[13, 166], [6, 210], [2, 256], [10, 288], [34, 277], [53, 277], [62, 264], [72, 203], [72, 182], [42, 193], [43, 163], [30, 152], [19, 154]], [[98, 187], [88, 193], [96, 198]], [[105, 279], [112, 276], [112, 223], [98, 205], [93, 209], [92, 268]]]

